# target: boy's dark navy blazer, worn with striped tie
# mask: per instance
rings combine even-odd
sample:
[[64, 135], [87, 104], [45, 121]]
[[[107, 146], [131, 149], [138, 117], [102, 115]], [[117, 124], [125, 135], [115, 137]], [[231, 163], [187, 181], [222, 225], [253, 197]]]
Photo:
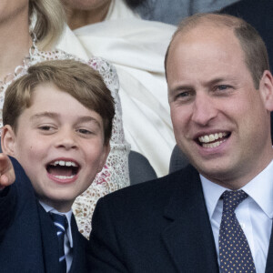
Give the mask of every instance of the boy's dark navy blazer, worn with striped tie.
[[[12, 158], [15, 183], [0, 197], [0, 272], [59, 272], [56, 229], [23, 168]], [[72, 217], [73, 263], [70, 272], [87, 272], [87, 240]]]

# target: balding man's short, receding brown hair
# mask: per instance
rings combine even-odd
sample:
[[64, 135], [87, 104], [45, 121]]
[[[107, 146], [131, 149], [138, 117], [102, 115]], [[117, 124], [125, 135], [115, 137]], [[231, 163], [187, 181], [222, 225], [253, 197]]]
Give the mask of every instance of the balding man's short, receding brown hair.
[[253, 78], [254, 86], [258, 89], [259, 81], [265, 70], [269, 70], [267, 47], [257, 30], [241, 18], [232, 15], [197, 14], [184, 19], [177, 27], [165, 56], [165, 73], [167, 78], [167, 56], [175, 37], [179, 34], [200, 25], [215, 25], [231, 29], [238, 38], [239, 44], [245, 54], [245, 62]]

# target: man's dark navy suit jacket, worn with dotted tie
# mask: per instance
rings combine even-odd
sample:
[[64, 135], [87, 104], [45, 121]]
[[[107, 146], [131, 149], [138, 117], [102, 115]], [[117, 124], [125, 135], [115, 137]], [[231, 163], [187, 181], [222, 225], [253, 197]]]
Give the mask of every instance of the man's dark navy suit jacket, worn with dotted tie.
[[219, 272], [201, 182], [191, 166], [101, 198], [92, 224], [92, 272]]

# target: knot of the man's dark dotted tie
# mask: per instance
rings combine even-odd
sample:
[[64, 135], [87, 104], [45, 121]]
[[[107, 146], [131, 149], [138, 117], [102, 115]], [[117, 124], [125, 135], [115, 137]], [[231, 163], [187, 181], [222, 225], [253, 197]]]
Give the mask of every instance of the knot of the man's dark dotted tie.
[[223, 211], [234, 212], [238, 204], [248, 197], [243, 190], [226, 190], [223, 194]]

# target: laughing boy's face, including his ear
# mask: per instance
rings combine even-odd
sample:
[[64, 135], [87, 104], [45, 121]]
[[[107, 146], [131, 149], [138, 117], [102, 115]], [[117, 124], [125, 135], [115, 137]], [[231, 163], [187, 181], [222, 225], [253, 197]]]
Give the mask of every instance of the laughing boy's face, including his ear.
[[37, 197], [67, 211], [105, 164], [103, 120], [54, 85], [37, 86], [16, 134], [3, 129], [3, 150], [24, 167]]

